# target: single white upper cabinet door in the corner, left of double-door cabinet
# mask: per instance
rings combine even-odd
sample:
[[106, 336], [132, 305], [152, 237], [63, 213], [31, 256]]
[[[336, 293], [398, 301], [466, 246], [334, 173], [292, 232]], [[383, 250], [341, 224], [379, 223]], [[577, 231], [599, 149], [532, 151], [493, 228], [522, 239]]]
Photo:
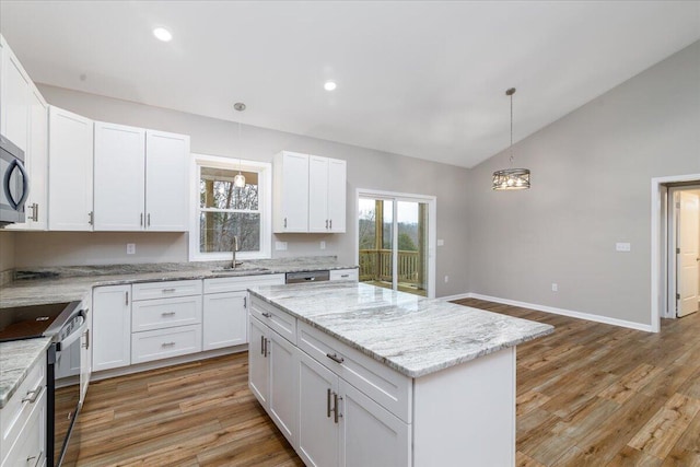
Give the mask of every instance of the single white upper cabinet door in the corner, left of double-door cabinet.
[[48, 131], [48, 227], [90, 231], [93, 122], [51, 106]]

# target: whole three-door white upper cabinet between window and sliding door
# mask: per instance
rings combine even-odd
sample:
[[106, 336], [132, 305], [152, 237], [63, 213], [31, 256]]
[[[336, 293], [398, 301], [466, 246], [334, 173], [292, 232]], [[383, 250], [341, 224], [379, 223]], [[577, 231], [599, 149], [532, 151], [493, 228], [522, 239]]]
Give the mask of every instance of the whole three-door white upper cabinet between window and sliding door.
[[282, 152], [275, 156], [275, 233], [346, 231], [346, 161]]

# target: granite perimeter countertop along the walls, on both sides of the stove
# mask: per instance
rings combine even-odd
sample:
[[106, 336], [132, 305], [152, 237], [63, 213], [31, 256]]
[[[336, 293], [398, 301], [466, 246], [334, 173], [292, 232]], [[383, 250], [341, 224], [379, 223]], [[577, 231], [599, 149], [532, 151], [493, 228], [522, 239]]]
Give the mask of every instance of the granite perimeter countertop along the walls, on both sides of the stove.
[[[96, 285], [357, 268], [339, 264], [335, 256], [249, 260], [236, 270], [223, 270], [228, 264], [230, 261], [163, 262], [18, 271], [18, 276], [24, 279], [0, 285], [0, 313], [2, 308], [13, 306], [89, 301], [92, 288]], [[48, 345], [49, 340], [44, 338], [0, 343], [0, 408], [14, 394]]]

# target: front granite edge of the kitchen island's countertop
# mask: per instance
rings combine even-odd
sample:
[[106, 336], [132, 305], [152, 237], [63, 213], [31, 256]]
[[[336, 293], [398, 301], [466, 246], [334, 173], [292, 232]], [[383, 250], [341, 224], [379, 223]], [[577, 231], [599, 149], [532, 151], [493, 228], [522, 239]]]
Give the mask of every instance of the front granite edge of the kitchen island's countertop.
[[539, 331], [529, 332], [527, 335], [520, 336], [520, 337], [517, 337], [515, 339], [511, 339], [511, 340], [508, 340], [508, 341], [504, 341], [504, 342], [502, 341], [502, 342], [499, 342], [499, 343], [494, 343], [494, 345], [491, 345], [489, 347], [485, 347], [482, 349], [479, 349], [479, 351], [477, 351], [477, 352], [463, 353], [463, 354], [459, 354], [458, 357], [455, 357], [455, 358], [452, 358], [452, 359], [445, 359], [444, 361], [442, 361], [440, 363], [425, 365], [425, 366], [422, 366], [420, 369], [409, 369], [409, 367], [406, 367], [406, 366], [404, 366], [404, 365], [401, 365], [399, 363], [396, 363], [395, 361], [393, 361], [393, 360], [390, 360], [390, 359], [388, 359], [388, 358], [386, 358], [384, 355], [381, 355], [381, 354], [372, 351], [371, 349], [368, 349], [366, 347], [355, 342], [352, 339], [349, 339], [346, 336], [342, 336], [342, 335], [340, 335], [338, 332], [335, 332], [335, 331], [326, 328], [325, 326], [316, 323], [315, 320], [313, 320], [313, 319], [311, 319], [311, 318], [308, 318], [306, 316], [303, 316], [303, 315], [300, 315], [299, 313], [295, 313], [294, 311], [290, 310], [289, 307], [276, 302], [275, 300], [268, 299], [267, 296], [262, 295], [261, 293], [257, 292], [254, 289], [248, 289], [248, 292], [250, 294], [257, 296], [258, 299], [265, 301], [266, 303], [269, 303], [270, 305], [273, 305], [273, 306], [277, 306], [277, 307], [281, 308], [282, 311], [289, 313], [293, 317], [295, 317], [298, 319], [301, 319], [302, 322], [308, 324], [310, 326], [312, 326], [312, 327], [314, 327], [314, 328], [327, 334], [328, 336], [331, 336], [331, 337], [338, 339], [339, 341], [352, 347], [355, 350], [359, 350], [363, 354], [376, 360], [377, 362], [381, 362], [381, 363], [387, 365], [388, 367], [397, 371], [398, 373], [400, 373], [400, 374], [402, 374], [405, 376], [411, 377], [411, 378], [419, 378], [421, 376], [425, 376], [425, 375], [429, 375], [431, 373], [435, 373], [435, 372], [439, 372], [441, 370], [448, 369], [451, 366], [455, 366], [455, 365], [458, 365], [458, 364], [462, 364], [462, 363], [466, 363], [466, 362], [469, 362], [471, 360], [476, 360], [476, 359], [478, 359], [480, 357], [485, 357], [485, 355], [488, 355], [490, 353], [498, 352], [499, 350], [508, 349], [510, 347], [514, 347], [514, 346], [521, 345], [523, 342], [527, 342], [529, 340], [534, 340], [534, 339], [537, 339], [539, 337], [544, 337], [544, 336], [550, 335], [550, 334], [552, 334], [555, 331], [553, 326], [541, 324], [541, 330], [539, 330]]

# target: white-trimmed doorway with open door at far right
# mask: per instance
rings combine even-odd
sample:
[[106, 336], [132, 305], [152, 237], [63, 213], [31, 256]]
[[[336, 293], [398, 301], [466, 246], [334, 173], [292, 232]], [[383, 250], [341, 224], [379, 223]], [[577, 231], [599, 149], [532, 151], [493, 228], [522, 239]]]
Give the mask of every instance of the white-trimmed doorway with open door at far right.
[[[700, 255], [696, 254], [693, 234], [698, 217], [695, 211], [696, 190], [700, 190], [700, 174], [677, 175], [652, 178], [652, 255], [651, 255], [651, 331], [658, 332], [661, 318], [675, 318], [677, 308], [691, 314], [695, 304], [698, 310], [700, 288]], [[684, 208], [682, 199], [687, 200]], [[690, 196], [688, 196], [690, 195]], [[681, 212], [682, 208], [682, 212]], [[700, 227], [699, 227], [700, 229]], [[682, 236], [682, 238], [681, 238]], [[685, 253], [684, 253], [685, 252]], [[691, 259], [696, 259], [695, 269]], [[681, 269], [679, 271], [679, 268]], [[685, 296], [685, 304], [681, 297]]]

